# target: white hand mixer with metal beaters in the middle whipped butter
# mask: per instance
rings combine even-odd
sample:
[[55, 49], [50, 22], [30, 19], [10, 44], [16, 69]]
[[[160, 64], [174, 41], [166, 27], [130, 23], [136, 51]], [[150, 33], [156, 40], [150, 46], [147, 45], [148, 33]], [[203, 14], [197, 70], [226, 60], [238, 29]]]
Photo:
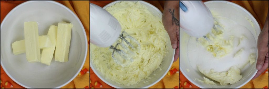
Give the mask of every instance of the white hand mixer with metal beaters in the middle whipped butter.
[[[114, 47], [112, 44], [116, 41], [118, 43]], [[93, 3], [90, 3], [90, 42], [99, 47], [110, 46], [109, 48], [113, 49], [112, 58], [122, 66], [126, 65], [126, 61], [132, 62], [132, 55], [140, 49], [136, 39], [125, 31], [121, 33], [121, 25], [114, 16]]]

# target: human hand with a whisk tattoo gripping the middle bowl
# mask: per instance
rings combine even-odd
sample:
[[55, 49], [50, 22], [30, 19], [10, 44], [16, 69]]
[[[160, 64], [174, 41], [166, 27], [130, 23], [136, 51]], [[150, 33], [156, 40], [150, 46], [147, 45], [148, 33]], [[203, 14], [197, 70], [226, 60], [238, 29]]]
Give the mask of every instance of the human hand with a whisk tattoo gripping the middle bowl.
[[179, 1], [166, 1], [162, 14], [162, 23], [167, 31], [173, 49], [176, 49], [174, 61], [179, 57]]

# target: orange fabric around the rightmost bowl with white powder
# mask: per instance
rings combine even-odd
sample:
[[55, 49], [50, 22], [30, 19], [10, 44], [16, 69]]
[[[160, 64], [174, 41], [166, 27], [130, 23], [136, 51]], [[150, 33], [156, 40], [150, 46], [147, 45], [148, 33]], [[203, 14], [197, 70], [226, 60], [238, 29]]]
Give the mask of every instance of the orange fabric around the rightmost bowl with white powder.
[[[206, 2], [206, 1], [203, 1], [203, 2]], [[266, 16], [268, 13], [268, 1], [230, 1], [230, 2], [236, 3], [242, 6], [243, 8], [245, 8], [247, 11], [249, 11], [259, 23], [260, 28], [263, 29], [264, 22], [266, 20]], [[267, 68], [267, 71], [268, 71], [268, 68]], [[187, 80], [186, 77], [182, 73], [179, 73], [179, 76], [180, 76], [179, 78], [181, 81], [180, 83], [181, 86], [183, 86], [183, 83], [185, 81], [189, 82], [189, 80]], [[192, 84], [191, 82], [189, 83], [192, 85], [192, 88], [199, 88], [195, 86], [194, 84]], [[265, 86], [268, 87], [268, 72], [263, 73], [258, 78], [251, 80], [250, 82], [248, 82], [247, 84], [245, 84], [244, 86], [240, 88], [263, 88]], [[183, 87], [187, 88], [185, 86]]]

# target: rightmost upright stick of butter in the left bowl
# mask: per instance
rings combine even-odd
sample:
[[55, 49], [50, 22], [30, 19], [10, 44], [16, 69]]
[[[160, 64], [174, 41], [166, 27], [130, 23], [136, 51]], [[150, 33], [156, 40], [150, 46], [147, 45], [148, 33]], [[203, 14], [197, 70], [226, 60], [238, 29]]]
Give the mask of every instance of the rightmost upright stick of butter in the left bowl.
[[67, 62], [69, 46], [71, 40], [71, 29], [73, 25], [66, 22], [60, 22], [57, 28], [55, 61]]

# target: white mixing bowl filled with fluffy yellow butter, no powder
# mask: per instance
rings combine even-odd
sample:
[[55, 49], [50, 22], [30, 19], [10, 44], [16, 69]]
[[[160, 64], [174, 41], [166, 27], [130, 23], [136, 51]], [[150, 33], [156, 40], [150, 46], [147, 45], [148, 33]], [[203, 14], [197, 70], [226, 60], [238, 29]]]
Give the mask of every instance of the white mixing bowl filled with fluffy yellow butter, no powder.
[[[107, 6], [114, 5], [115, 3], [120, 2], [120, 1], [114, 1], [109, 3], [108, 5], [104, 6], [103, 8], [105, 9]], [[137, 2], [137, 1], [130, 1], [130, 2]], [[141, 4], [145, 5], [148, 10], [155, 16], [162, 17], [162, 13], [159, 9], [157, 9], [155, 6], [151, 5], [150, 3], [147, 3], [145, 1], [139, 1]], [[168, 37], [169, 38], [169, 37]], [[115, 87], [115, 88], [148, 88], [150, 86], [153, 86], [157, 82], [159, 82], [164, 76], [167, 74], [169, 71], [173, 61], [174, 61], [174, 54], [175, 54], [175, 49], [172, 49], [172, 46], [170, 44], [170, 38], [168, 39], [169, 41], [167, 42], [167, 47], [168, 47], [168, 53], [165, 55], [164, 60], [162, 61], [162, 64], [160, 65], [162, 71], [160, 69], [156, 69], [149, 77], [150, 79], [148, 82], [144, 83], [144, 81], [139, 82], [138, 84], [134, 84], [132, 86], [123, 86], [120, 84], [117, 84], [116, 82], [113, 82], [111, 80], [105, 79], [104, 75], [95, 68], [95, 65], [93, 64], [92, 60], [90, 60], [90, 67], [93, 69], [93, 72], [105, 83], [108, 85]], [[91, 59], [91, 53], [90, 53], [90, 59]], [[156, 76], [155, 76], [155, 75]]]

